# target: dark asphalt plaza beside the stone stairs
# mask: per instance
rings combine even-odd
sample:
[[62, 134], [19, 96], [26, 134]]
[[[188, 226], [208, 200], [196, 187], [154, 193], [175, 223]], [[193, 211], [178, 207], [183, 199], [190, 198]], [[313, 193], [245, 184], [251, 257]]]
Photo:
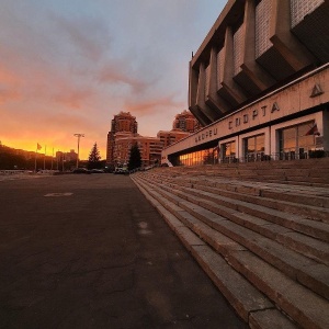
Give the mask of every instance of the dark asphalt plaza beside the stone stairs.
[[129, 177], [0, 181], [0, 328], [246, 328]]

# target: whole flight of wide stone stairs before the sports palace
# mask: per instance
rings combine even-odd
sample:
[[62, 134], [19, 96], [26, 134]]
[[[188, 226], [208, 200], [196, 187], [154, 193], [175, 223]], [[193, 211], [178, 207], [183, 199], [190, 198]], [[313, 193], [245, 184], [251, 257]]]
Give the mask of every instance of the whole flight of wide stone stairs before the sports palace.
[[329, 159], [319, 160], [299, 160], [297, 169], [292, 161], [158, 168], [131, 178], [250, 328], [325, 329]]

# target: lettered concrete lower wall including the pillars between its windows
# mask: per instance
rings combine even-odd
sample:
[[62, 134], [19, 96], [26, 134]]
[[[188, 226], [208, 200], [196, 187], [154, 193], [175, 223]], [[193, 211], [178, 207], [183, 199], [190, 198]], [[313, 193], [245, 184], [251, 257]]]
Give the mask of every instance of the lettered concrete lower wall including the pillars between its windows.
[[[325, 65], [240, 110], [209, 124], [197, 133], [166, 148], [162, 158], [189, 149], [205, 147], [265, 133], [265, 152], [277, 149], [275, 132], [282, 127], [314, 120], [329, 150], [329, 65]], [[239, 146], [239, 156], [242, 150]]]

